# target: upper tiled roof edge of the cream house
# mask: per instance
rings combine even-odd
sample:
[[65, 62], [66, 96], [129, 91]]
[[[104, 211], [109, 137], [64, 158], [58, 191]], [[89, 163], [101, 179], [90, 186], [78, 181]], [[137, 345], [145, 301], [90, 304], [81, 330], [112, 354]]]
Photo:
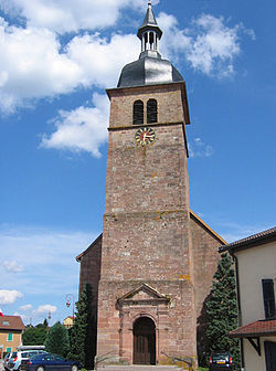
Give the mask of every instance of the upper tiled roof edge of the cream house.
[[269, 241], [276, 241], [276, 226], [269, 230], [253, 234], [248, 237], [232, 242], [225, 246], [221, 246], [220, 253], [224, 251], [245, 250], [245, 248], [250, 248], [256, 245], [262, 245]]

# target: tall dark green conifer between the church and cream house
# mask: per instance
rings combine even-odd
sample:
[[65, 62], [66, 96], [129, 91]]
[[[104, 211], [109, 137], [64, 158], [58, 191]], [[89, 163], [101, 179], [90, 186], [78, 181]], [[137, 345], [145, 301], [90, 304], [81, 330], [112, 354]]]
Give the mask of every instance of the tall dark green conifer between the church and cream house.
[[229, 254], [222, 254], [205, 308], [206, 354], [229, 351], [240, 365], [240, 342], [229, 337], [238, 326], [235, 273]]

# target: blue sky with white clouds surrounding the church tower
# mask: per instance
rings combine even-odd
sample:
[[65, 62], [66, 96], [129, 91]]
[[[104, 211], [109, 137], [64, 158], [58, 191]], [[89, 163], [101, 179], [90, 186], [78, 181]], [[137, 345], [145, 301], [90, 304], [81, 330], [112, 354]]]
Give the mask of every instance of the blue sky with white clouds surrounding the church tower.
[[[181, 72], [191, 209], [231, 242], [275, 225], [273, 0], [152, 1]], [[146, 0], [0, 0], [0, 308], [72, 314], [75, 256], [100, 233], [109, 104]]]

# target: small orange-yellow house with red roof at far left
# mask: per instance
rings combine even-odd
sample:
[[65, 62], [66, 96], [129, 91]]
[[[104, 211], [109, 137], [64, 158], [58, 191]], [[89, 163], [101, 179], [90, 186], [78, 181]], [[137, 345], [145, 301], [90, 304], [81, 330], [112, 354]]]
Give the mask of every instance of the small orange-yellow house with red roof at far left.
[[0, 316], [0, 358], [6, 352], [22, 346], [22, 333], [25, 327], [19, 316]]

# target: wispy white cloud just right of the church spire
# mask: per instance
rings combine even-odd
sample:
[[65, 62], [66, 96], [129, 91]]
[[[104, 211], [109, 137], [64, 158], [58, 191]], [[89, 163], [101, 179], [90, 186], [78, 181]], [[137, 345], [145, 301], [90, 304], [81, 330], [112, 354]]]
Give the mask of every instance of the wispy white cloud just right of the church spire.
[[243, 23], [231, 28], [222, 17], [211, 14], [200, 15], [184, 30], [179, 29], [173, 15], [160, 13], [158, 21], [164, 31], [161, 51], [173, 59], [183, 53], [194, 70], [211, 76], [227, 77], [234, 73], [242, 33], [255, 40], [254, 31], [247, 30]]

